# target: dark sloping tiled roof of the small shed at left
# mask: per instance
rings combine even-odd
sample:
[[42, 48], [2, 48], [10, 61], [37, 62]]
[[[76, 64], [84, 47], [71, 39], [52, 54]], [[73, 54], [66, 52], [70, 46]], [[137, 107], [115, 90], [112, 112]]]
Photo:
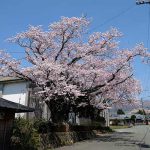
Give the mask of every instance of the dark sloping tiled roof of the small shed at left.
[[34, 111], [33, 108], [0, 98], [0, 110], [6, 110], [6, 109], [13, 110], [16, 113], [33, 112]]

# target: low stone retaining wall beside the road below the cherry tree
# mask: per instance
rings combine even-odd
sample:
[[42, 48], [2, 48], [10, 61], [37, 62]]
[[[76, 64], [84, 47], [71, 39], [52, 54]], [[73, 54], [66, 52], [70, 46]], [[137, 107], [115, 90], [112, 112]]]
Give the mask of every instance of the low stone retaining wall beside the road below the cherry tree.
[[96, 137], [96, 132], [94, 131], [40, 134], [39, 150], [48, 150], [50, 148], [71, 145], [75, 142], [92, 139], [94, 137]]

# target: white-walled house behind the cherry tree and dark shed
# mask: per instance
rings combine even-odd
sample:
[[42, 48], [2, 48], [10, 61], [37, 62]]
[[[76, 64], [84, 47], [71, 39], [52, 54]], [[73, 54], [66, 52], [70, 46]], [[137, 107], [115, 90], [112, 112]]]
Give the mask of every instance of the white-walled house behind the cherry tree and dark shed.
[[38, 97], [33, 96], [33, 88], [29, 81], [15, 77], [0, 77], [0, 98], [35, 108], [34, 113], [18, 113], [16, 117], [33, 118], [42, 116], [49, 119], [50, 113], [46, 104], [41, 106]]

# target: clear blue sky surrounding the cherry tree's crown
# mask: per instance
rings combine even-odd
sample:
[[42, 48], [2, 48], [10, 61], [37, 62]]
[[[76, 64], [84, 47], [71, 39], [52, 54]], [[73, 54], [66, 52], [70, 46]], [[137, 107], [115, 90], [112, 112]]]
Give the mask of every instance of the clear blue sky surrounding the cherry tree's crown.
[[[23, 57], [22, 50], [6, 39], [27, 30], [29, 25], [47, 26], [61, 16], [92, 18], [90, 32], [106, 31], [116, 27], [124, 36], [121, 47], [131, 48], [143, 42], [148, 44], [149, 5], [136, 5], [135, 0], [1, 0], [0, 1], [0, 49], [11, 52], [16, 58]], [[150, 42], [150, 40], [149, 40]], [[142, 65], [136, 59], [135, 76], [142, 82], [144, 99], [150, 95], [150, 65]]]

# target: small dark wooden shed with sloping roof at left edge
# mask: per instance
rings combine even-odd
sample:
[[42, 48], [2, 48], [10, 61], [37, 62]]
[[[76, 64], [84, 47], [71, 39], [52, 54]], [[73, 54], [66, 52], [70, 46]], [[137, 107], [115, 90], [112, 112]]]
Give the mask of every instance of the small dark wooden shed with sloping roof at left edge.
[[10, 137], [15, 113], [33, 112], [27, 106], [0, 98], [0, 150], [10, 150]]

